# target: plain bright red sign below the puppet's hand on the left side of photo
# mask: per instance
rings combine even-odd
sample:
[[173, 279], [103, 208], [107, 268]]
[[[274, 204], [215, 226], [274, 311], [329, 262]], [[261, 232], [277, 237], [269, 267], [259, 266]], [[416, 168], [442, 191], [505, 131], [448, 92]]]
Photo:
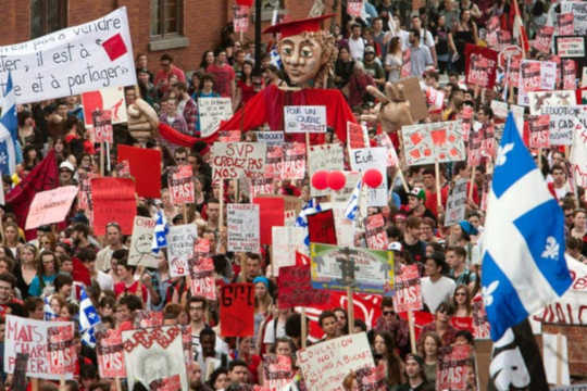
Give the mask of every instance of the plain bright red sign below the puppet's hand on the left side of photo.
[[118, 162], [128, 161], [137, 194], [161, 198], [161, 151], [118, 144]]

